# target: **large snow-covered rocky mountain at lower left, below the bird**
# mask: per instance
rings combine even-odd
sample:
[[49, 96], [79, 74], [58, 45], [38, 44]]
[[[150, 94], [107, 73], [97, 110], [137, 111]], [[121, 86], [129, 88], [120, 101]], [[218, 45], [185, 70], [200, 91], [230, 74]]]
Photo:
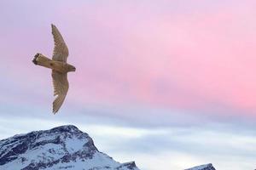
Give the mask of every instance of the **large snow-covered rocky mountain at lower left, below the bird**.
[[96, 149], [73, 125], [0, 140], [1, 170], [139, 170], [134, 161], [119, 163]]

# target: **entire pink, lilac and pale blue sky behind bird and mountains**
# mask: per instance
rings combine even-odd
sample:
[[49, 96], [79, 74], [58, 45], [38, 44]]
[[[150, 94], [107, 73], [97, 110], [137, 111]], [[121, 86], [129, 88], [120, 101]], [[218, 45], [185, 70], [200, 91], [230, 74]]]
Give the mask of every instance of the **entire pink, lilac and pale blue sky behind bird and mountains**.
[[[0, 139], [73, 124], [142, 170], [256, 168], [255, 1], [0, 1]], [[69, 48], [53, 115], [50, 24]]]

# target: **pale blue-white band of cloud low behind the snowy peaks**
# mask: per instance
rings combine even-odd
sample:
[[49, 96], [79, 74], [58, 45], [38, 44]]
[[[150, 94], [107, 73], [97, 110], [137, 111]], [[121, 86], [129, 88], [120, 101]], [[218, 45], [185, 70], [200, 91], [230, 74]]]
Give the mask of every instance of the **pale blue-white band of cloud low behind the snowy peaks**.
[[[65, 120], [9, 117], [0, 122], [0, 138], [13, 133], [69, 124]], [[12, 122], [10, 124], [9, 122]], [[26, 126], [24, 126], [26, 124]], [[111, 124], [73, 122], [89, 133], [99, 150], [118, 161], [137, 162], [138, 167], [183, 169], [212, 162], [218, 169], [252, 169], [256, 153], [256, 135], [237, 132], [236, 127], [204, 124], [196, 127], [127, 127]]]

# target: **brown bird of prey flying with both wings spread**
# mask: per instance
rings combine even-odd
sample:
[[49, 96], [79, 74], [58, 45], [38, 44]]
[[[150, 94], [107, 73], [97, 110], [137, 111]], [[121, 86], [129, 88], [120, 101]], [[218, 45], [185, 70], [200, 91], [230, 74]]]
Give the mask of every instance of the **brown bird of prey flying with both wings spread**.
[[68, 91], [67, 72], [76, 71], [73, 65], [67, 63], [68, 48], [64, 42], [61, 32], [57, 27], [51, 25], [51, 32], [54, 37], [55, 48], [52, 59], [45, 57], [43, 54], [36, 54], [32, 62], [35, 65], [41, 65], [51, 69], [51, 77], [54, 86], [55, 100], [53, 102], [53, 113], [55, 114], [60, 110], [61, 105], [66, 98]]

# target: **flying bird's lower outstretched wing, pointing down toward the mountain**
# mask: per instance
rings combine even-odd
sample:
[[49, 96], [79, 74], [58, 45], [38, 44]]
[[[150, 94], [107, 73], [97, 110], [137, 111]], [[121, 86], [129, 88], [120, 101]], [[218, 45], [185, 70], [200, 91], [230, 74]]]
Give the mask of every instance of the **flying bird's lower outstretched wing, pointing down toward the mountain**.
[[53, 113], [55, 114], [61, 108], [61, 105], [67, 95], [68, 81], [67, 73], [63, 74], [58, 71], [52, 71], [51, 76], [54, 85], [54, 96], [56, 96], [53, 102]]

